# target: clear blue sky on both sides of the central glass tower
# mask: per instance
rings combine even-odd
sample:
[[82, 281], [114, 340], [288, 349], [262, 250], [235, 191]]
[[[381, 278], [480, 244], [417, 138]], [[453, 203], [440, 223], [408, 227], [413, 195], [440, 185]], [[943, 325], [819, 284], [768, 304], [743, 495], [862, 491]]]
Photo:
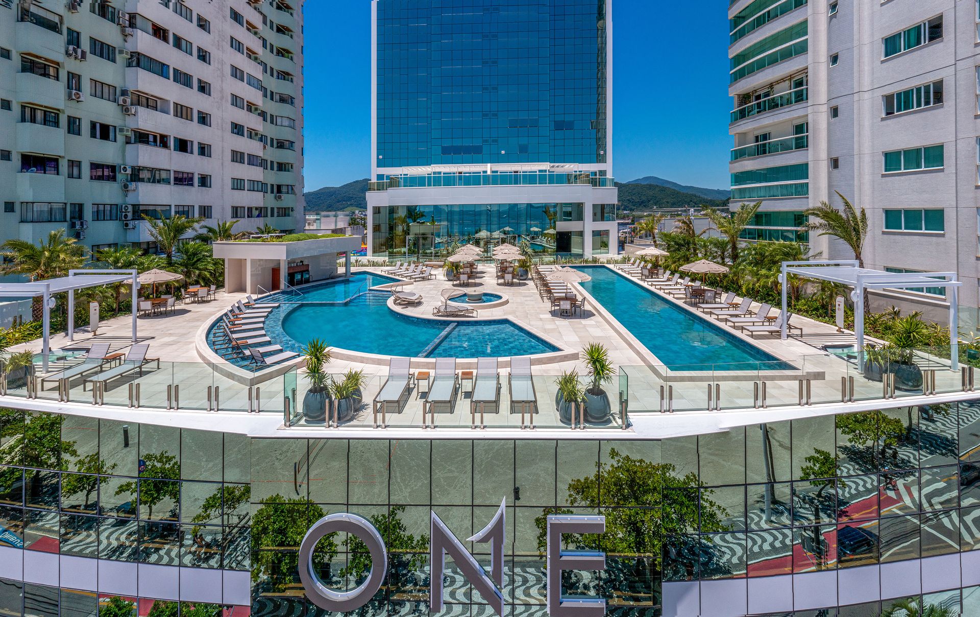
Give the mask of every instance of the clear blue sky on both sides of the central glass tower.
[[[707, 5], [706, 5], [707, 7]], [[613, 0], [613, 173], [728, 187], [728, 23]], [[370, 2], [306, 3], [306, 187], [370, 174]]]

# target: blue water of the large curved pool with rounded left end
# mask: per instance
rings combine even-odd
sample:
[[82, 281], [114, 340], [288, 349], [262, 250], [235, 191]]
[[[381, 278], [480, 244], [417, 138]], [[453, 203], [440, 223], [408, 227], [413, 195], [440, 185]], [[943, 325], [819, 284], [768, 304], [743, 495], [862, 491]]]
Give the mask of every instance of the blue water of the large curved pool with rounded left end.
[[283, 293], [263, 298], [281, 303], [271, 312], [266, 332], [275, 343], [297, 352], [312, 338], [331, 347], [388, 356], [477, 358], [559, 351], [507, 320], [443, 322], [395, 313], [387, 305], [389, 292], [368, 291], [395, 281], [358, 273], [351, 279], [305, 288], [302, 296]]

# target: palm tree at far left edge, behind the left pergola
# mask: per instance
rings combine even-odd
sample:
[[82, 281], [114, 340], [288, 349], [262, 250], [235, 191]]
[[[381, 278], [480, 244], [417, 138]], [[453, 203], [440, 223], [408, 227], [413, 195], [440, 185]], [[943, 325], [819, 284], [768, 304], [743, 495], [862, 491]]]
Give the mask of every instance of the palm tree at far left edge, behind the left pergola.
[[[0, 256], [4, 262], [10, 262], [0, 265], [0, 273], [24, 275], [30, 281], [67, 277], [69, 271], [81, 268], [88, 260], [85, 248], [73, 237], [66, 237], [63, 229], [51, 231], [47, 239], [37, 244], [17, 238], [7, 240], [0, 245]], [[34, 321], [43, 316], [41, 302], [41, 298], [35, 297], [31, 304]]]

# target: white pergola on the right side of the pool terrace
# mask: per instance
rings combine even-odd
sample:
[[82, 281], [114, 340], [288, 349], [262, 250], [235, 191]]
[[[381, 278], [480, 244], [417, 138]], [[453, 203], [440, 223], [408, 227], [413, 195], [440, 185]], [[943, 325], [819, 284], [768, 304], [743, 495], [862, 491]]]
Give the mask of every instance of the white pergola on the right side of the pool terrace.
[[[956, 324], [957, 292], [962, 284], [956, 281], [955, 272], [916, 272], [898, 274], [860, 268], [858, 261], [785, 261], [779, 283], [782, 287], [782, 309], [786, 315], [786, 282], [787, 276], [793, 275], [803, 279], [840, 283], [853, 287], [851, 299], [855, 303], [855, 336], [858, 339], [858, 351], [864, 350], [864, 294], [872, 289], [907, 289], [909, 287], [944, 287], [949, 290], [947, 301], [950, 303], [950, 368], [959, 368], [959, 345]], [[786, 320], [782, 323], [782, 337], [786, 338]], [[860, 354], [858, 354], [860, 357]]]

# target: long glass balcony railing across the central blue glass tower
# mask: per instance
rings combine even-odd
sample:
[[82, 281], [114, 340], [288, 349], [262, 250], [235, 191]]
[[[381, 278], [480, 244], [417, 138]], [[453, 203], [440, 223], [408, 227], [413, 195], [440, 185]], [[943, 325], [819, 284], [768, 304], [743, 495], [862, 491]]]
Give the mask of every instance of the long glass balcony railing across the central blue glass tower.
[[424, 174], [389, 176], [387, 180], [368, 182], [369, 191], [389, 188], [431, 188], [447, 186], [521, 186], [544, 184], [577, 184], [613, 187], [615, 179], [592, 176], [589, 173], [518, 172], [473, 174]]

